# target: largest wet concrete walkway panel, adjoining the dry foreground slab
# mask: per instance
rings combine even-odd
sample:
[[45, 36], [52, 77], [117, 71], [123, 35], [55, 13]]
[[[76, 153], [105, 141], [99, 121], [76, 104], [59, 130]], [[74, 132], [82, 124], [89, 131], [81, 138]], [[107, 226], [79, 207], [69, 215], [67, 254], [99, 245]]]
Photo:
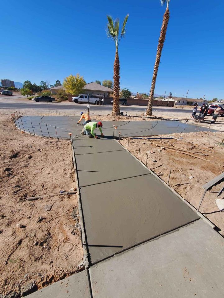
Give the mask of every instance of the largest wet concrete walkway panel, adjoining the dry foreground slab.
[[81, 187], [81, 199], [92, 263], [198, 219], [152, 174]]

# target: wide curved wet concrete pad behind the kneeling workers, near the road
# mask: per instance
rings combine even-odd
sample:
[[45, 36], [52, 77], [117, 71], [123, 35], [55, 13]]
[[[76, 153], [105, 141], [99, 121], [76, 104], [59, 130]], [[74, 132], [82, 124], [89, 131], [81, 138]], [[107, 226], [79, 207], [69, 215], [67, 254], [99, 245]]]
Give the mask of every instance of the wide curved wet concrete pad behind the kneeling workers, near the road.
[[[66, 116], [23, 116], [16, 120], [18, 129], [25, 130], [27, 133], [32, 133], [39, 136], [52, 138], [69, 138], [68, 133], [72, 133], [72, 137], [80, 135], [83, 128], [82, 125], [77, 125], [79, 117]], [[200, 131], [208, 131], [206, 127], [197, 127], [193, 124], [178, 122], [175, 120], [167, 121], [104, 121], [103, 133], [105, 136], [113, 136], [113, 125], [117, 126], [117, 136], [119, 131], [121, 137], [137, 137], [161, 135], [170, 133], [189, 133], [195, 129]], [[211, 131], [215, 131], [210, 129]], [[100, 135], [98, 129], [96, 134]], [[80, 138], [80, 137], [79, 137]]]

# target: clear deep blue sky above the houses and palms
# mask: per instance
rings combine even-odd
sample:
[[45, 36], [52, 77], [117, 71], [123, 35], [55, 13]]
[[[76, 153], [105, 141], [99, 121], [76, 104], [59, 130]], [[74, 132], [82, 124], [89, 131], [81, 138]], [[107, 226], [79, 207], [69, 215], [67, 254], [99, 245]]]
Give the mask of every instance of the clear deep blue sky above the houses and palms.
[[[70, 74], [86, 82], [113, 78], [114, 42], [106, 37], [106, 15], [123, 21], [119, 45], [120, 86], [149, 92], [165, 7], [147, 1], [15, 1], [1, 13], [0, 77], [40, 84]], [[224, 2], [171, 0], [170, 21], [155, 93], [224, 98]], [[6, 41], [6, 42], [5, 42]]]

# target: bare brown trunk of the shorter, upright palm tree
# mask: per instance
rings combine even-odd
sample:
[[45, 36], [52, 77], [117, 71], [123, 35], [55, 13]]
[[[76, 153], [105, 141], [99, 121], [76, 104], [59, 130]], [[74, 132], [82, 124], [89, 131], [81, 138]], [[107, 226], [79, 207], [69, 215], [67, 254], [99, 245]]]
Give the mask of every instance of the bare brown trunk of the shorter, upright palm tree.
[[119, 115], [119, 91], [120, 91], [120, 62], [118, 51], [116, 50], [115, 60], [114, 60], [114, 103], [112, 115]]

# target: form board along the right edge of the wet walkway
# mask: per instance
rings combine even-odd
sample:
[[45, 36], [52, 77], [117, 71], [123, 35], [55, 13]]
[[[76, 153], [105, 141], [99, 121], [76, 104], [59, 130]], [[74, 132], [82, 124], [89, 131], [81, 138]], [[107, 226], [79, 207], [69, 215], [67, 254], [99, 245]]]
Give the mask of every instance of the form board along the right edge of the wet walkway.
[[[114, 139], [115, 140], [115, 139]], [[128, 151], [127, 148], [125, 148], [119, 141], [115, 140], [120, 146], [122, 146], [126, 151]], [[156, 177], [161, 183], [163, 183], [171, 192], [173, 192], [176, 196], [178, 196], [179, 199], [181, 199], [188, 207], [190, 207], [201, 219], [203, 219], [207, 224], [209, 224], [213, 229], [215, 228], [215, 225], [207, 219], [203, 214], [201, 214], [197, 209], [192, 206], [188, 201], [186, 201], [182, 196], [180, 196], [173, 188], [171, 188], [165, 181], [163, 181], [159, 176], [157, 176], [153, 171], [151, 171], [141, 160], [139, 160], [136, 156], [134, 156], [130, 151], [128, 151], [129, 154], [131, 154], [138, 162], [140, 162], [154, 177]]]

